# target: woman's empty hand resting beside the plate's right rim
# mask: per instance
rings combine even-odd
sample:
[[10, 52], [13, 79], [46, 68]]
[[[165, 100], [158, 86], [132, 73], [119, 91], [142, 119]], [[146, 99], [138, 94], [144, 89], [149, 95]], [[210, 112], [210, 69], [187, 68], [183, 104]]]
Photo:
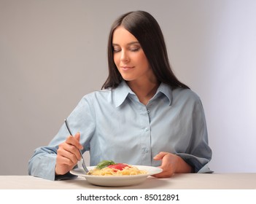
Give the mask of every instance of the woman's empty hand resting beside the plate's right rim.
[[161, 173], [153, 176], [157, 178], [171, 177], [174, 173], [191, 173], [192, 168], [181, 157], [169, 152], [160, 152], [155, 155], [154, 160], [162, 160], [159, 168], [162, 168]]

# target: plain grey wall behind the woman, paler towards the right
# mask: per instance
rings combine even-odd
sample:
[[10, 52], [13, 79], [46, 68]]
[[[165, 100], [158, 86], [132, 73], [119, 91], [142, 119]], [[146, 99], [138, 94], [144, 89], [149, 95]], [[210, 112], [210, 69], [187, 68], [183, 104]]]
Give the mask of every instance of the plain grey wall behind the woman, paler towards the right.
[[101, 89], [109, 28], [137, 9], [158, 20], [175, 74], [201, 96], [212, 170], [256, 172], [256, 1], [0, 0], [0, 175], [26, 175], [34, 149]]

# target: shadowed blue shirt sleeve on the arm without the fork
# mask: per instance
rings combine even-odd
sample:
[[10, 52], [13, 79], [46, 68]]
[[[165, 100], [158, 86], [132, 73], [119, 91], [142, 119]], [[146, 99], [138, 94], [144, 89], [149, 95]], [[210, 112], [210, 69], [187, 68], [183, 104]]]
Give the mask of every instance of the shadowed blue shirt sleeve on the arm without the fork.
[[212, 149], [209, 147], [206, 118], [200, 99], [195, 103], [192, 118], [190, 145], [186, 152], [177, 155], [191, 165], [195, 173], [212, 173], [209, 168]]

